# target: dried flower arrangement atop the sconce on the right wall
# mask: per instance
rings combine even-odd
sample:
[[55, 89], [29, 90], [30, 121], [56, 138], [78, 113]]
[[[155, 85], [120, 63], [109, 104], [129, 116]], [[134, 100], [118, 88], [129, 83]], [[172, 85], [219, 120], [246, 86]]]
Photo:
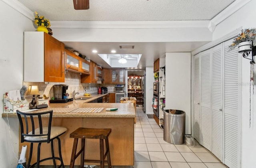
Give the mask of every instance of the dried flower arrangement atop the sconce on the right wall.
[[229, 51], [234, 49], [236, 46], [239, 45], [241, 42], [250, 42], [252, 40], [255, 40], [256, 38], [256, 29], [242, 29], [241, 33], [238, 34], [236, 38], [234, 38], [231, 45], [229, 45]]

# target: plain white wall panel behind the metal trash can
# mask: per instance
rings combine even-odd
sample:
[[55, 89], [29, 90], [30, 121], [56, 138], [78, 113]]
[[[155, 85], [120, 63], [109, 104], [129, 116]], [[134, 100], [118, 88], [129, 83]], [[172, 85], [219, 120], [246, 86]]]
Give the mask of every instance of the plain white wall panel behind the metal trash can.
[[165, 109], [185, 111], [185, 133], [191, 134], [191, 54], [166, 53]]

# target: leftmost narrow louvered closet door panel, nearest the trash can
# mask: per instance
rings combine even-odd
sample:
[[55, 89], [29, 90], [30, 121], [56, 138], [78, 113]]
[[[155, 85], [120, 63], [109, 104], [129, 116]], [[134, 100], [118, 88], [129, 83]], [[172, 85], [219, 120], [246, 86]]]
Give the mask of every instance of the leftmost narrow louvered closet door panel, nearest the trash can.
[[200, 53], [194, 55], [194, 138], [200, 143]]

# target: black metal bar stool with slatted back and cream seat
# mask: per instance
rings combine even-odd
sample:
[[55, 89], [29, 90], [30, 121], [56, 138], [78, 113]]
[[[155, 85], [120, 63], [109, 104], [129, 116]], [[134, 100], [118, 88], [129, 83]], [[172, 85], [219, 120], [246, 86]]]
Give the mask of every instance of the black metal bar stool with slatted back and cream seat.
[[[52, 125], [52, 110], [46, 112], [28, 112], [24, 113], [17, 110], [18, 119], [20, 122], [20, 141], [21, 142], [30, 142], [30, 154], [28, 159], [27, 168], [32, 168], [36, 165], [36, 168], [39, 168], [40, 162], [45, 160], [52, 160], [53, 165], [56, 168], [55, 160], [60, 160], [60, 166], [64, 168], [62, 155], [61, 155], [61, 148], [60, 148], [60, 138], [59, 136], [64, 134], [67, 130], [65, 127], [61, 126], [51, 126]], [[42, 122], [42, 115], [49, 115], [47, 116], [48, 121]], [[23, 123], [22, 118], [24, 118], [25, 122]], [[35, 128], [35, 121], [38, 121], [39, 127]], [[47, 123], [47, 126], [43, 126], [43, 123]], [[30, 132], [28, 132], [30, 131]], [[58, 140], [58, 150], [59, 150], [59, 157], [54, 156], [54, 147], [53, 147], [53, 140]], [[30, 166], [32, 153], [33, 153], [33, 143], [38, 143], [37, 148], [37, 161]], [[40, 146], [41, 143], [51, 142], [51, 151], [52, 157], [44, 158], [40, 160]]]

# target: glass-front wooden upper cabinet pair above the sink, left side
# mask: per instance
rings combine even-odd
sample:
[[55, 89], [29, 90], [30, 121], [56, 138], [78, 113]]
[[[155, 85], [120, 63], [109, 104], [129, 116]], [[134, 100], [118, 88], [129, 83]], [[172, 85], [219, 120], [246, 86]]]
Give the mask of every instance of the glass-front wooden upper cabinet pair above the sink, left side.
[[66, 70], [75, 73], [90, 74], [90, 63], [85, 59], [78, 57], [68, 49], [65, 49], [66, 53]]

